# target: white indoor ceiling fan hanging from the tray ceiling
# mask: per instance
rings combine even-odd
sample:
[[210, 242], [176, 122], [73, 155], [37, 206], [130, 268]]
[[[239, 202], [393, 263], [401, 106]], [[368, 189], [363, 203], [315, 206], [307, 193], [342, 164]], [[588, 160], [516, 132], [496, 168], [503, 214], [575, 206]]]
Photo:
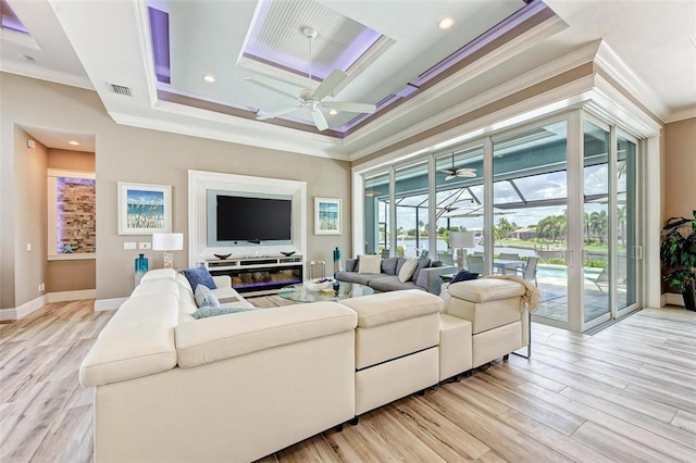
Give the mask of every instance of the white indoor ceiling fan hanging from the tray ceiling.
[[314, 122], [316, 129], [321, 132], [328, 128], [326, 117], [321, 111], [323, 108], [336, 111], [347, 111], [351, 113], [374, 113], [377, 108], [376, 105], [370, 103], [356, 103], [350, 101], [324, 101], [324, 98], [328, 97], [328, 95], [331, 95], [331, 92], [334, 91], [334, 89], [348, 77], [348, 74], [346, 74], [341, 70], [334, 70], [324, 80], [322, 80], [319, 87], [312, 89], [312, 40], [316, 38], [316, 30], [311, 27], [306, 27], [302, 29], [302, 34], [309, 40], [309, 72], [307, 88], [301, 90], [299, 95], [289, 93], [270, 84], [257, 80], [253, 77], [246, 78], [246, 80], [251, 84], [258, 85], [271, 91], [275, 91], [278, 95], [283, 95], [284, 97], [297, 100], [299, 104], [291, 108], [273, 111], [271, 113], [258, 115], [257, 120], [264, 121], [304, 108], [310, 111], [312, 121]]

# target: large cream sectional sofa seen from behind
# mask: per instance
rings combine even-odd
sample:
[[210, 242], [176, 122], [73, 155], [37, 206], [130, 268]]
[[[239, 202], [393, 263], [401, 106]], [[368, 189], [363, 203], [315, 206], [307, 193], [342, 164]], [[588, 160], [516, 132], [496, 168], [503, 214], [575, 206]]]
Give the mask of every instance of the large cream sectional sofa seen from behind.
[[[251, 306], [225, 278], [213, 292]], [[150, 272], [80, 366], [96, 387], [96, 461], [253, 461], [489, 362], [500, 352], [475, 341], [484, 333], [442, 313], [455, 286], [449, 305], [406, 290], [195, 320], [186, 278]], [[497, 292], [524, 325], [519, 289]], [[515, 336], [504, 353], [524, 342], [510, 323], [485, 333]]]

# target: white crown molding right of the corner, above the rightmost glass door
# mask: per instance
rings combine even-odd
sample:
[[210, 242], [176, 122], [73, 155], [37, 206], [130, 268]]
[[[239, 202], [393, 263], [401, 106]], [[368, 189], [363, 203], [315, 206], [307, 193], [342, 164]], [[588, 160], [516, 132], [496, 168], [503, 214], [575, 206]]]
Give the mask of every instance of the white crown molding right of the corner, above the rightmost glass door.
[[670, 110], [664, 101], [604, 40], [599, 42], [595, 64], [641, 101], [660, 121], [668, 118]]

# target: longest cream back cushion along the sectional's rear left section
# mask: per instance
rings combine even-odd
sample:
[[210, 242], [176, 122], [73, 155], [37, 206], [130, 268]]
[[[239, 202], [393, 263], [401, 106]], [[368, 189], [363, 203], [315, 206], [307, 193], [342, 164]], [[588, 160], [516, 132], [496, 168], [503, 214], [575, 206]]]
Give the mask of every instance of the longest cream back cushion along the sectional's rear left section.
[[358, 315], [337, 302], [201, 318], [176, 327], [178, 364], [190, 367], [337, 333], [352, 331]]

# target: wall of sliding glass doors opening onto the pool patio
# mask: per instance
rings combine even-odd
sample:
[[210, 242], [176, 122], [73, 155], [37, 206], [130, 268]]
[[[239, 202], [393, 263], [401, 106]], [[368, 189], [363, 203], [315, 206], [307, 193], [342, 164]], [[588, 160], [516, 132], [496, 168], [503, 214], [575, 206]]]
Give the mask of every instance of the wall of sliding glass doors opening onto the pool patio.
[[471, 232], [464, 267], [536, 285], [537, 322], [593, 328], [639, 305], [636, 148], [576, 111], [383, 166], [363, 177], [365, 252], [452, 265], [450, 234]]

